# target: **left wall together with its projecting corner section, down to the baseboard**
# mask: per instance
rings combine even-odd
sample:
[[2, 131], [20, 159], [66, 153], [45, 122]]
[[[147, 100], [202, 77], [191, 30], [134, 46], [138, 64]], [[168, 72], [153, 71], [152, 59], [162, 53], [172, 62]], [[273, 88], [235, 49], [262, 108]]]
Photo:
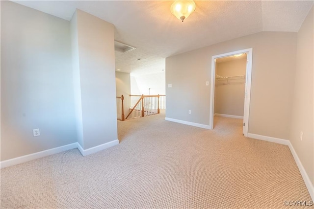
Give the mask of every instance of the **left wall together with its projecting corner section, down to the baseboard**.
[[74, 18], [1, 1], [1, 161], [117, 139], [114, 26]]

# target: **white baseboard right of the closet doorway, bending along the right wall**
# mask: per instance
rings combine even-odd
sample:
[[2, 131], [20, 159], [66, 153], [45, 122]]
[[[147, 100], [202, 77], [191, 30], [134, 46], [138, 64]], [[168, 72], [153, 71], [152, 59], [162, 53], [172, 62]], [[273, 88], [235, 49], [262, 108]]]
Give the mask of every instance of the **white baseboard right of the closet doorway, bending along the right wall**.
[[264, 140], [264, 141], [270, 141], [270, 142], [275, 142], [278, 144], [284, 144], [284, 145], [288, 145], [290, 152], [294, 158], [295, 163], [297, 164], [299, 171], [301, 173], [301, 176], [303, 178], [303, 181], [305, 183], [305, 186], [307, 187], [310, 196], [312, 198], [312, 200], [314, 201], [314, 186], [308, 176], [308, 174], [306, 173], [298, 155], [296, 154], [291, 142], [287, 139], [278, 139], [278, 138], [273, 138], [273, 137], [266, 137], [266, 136], [262, 136], [262, 135], [257, 135], [257, 134], [247, 134], [247, 137], [249, 138], [253, 138], [253, 139], [260, 139], [260, 140]]

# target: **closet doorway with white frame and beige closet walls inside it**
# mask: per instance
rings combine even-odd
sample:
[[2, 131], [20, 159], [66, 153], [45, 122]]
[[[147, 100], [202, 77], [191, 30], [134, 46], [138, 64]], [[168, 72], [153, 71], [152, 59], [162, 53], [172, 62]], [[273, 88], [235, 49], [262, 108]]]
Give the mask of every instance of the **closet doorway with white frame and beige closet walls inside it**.
[[[241, 115], [243, 115], [243, 134], [245, 137], [247, 137], [249, 114], [250, 114], [252, 55], [253, 55], [253, 48], [248, 48], [248, 49], [233, 51], [229, 53], [219, 54], [219, 55], [215, 55], [211, 57], [211, 82], [210, 82], [210, 107], [209, 107], [210, 108], [209, 110], [210, 129], [213, 129], [213, 118], [214, 118], [215, 110], [216, 112], [222, 111], [222, 113], [218, 113], [218, 114], [221, 114], [222, 116], [242, 118]], [[244, 60], [241, 60], [243, 58]], [[238, 61], [239, 66], [246, 64], [245, 69], [243, 69], [242, 71], [241, 69], [235, 69], [235, 68], [227, 70], [228, 64], [224, 62], [228, 62], [228, 61], [230, 62]], [[244, 82], [242, 87], [241, 87], [241, 80]], [[215, 91], [215, 86], [217, 88], [216, 91]], [[240, 93], [241, 89], [242, 90], [244, 89], [244, 93], [242, 92], [242, 97], [244, 97], [244, 102], [241, 101], [241, 93]], [[215, 92], [217, 93], [217, 98], [215, 97]], [[221, 95], [222, 93], [225, 93], [225, 94]], [[232, 98], [227, 98], [226, 96], [232, 95], [234, 97], [236, 94], [238, 94], [238, 98], [236, 102], [230, 103], [229, 106], [228, 105], [221, 106], [219, 104], [224, 101], [228, 101], [228, 100], [231, 101]], [[219, 107], [215, 108], [215, 104], [217, 106], [219, 105]], [[243, 112], [240, 110], [241, 108], [243, 108], [242, 109]]]

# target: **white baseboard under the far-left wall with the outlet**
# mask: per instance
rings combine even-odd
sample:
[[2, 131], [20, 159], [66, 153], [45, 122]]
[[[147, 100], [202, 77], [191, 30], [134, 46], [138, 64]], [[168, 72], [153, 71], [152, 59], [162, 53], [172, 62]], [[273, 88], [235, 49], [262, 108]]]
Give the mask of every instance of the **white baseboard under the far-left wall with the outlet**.
[[24, 156], [21, 156], [21, 157], [17, 157], [17, 158], [12, 158], [12, 159], [9, 159], [9, 160], [6, 160], [6, 161], [1, 161], [0, 162], [0, 168], [9, 167], [9, 166], [20, 164], [20, 163], [26, 163], [27, 161], [32, 161], [32, 160], [35, 160], [35, 159], [38, 159], [38, 158], [43, 158], [43, 157], [46, 157], [46, 156], [49, 156], [49, 155], [57, 154], [59, 152], [64, 152], [64, 151], [67, 151], [67, 150], [70, 150], [70, 149], [74, 149], [74, 148], [77, 148], [77, 147], [78, 147], [77, 142], [75, 142], [75, 143], [72, 143], [72, 144], [59, 146], [59, 147], [48, 149], [48, 150], [44, 150], [44, 151], [41, 151], [41, 152], [36, 152], [36, 153], [29, 154], [29, 155], [24, 155]]

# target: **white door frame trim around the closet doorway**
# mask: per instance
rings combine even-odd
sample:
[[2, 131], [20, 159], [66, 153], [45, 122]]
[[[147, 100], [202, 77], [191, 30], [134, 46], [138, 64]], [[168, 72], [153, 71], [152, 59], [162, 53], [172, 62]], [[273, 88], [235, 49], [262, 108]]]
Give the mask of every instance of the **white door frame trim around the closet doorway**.
[[213, 129], [213, 119], [214, 119], [214, 87], [215, 87], [215, 64], [217, 58], [228, 57], [235, 54], [247, 54], [246, 63], [246, 76], [245, 76], [245, 100], [244, 100], [244, 116], [243, 122], [245, 126], [243, 127], [243, 134], [247, 137], [248, 125], [249, 125], [249, 114], [250, 114], [250, 97], [251, 97], [251, 79], [252, 79], [252, 57], [253, 48], [242, 49], [238, 51], [232, 51], [224, 54], [218, 54], [211, 57], [211, 78], [210, 78], [210, 103], [209, 103], [209, 127]]

